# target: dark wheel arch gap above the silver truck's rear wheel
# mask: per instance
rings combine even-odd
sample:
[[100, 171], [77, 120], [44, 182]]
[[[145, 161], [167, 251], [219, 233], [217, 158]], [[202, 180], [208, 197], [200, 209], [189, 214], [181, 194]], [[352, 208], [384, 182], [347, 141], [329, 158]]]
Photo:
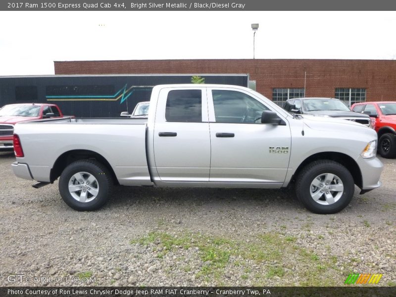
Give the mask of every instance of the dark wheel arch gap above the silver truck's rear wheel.
[[92, 151], [92, 150], [87, 150], [87, 149], [74, 149], [74, 150], [69, 150], [64, 153], [62, 153], [55, 161], [53, 164], [50, 174], [49, 174], [49, 179], [50, 182], [53, 183], [62, 171], [71, 163], [78, 161], [78, 160], [85, 160], [85, 159], [94, 159], [104, 165], [109, 172], [111, 173], [111, 178], [114, 182], [114, 184], [118, 184], [117, 177], [114, 173], [113, 168], [111, 167], [110, 163], [99, 153]]

